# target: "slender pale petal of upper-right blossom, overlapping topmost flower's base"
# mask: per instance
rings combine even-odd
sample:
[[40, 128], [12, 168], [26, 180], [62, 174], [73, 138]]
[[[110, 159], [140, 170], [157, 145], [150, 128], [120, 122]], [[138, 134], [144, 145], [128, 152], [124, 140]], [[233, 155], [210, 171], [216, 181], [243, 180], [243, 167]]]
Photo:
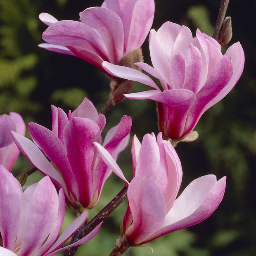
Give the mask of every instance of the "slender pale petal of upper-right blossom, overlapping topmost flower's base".
[[136, 69], [128, 68], [126, 66], [114, 65], [109, 62], [102, 62], [102, 66], [112, 76], [118, 76], [127, 80], [140, 82], [145, 85], [149, 85], [156, 90], [160, 90], [156, 83], [149, 76], [141, 73]]

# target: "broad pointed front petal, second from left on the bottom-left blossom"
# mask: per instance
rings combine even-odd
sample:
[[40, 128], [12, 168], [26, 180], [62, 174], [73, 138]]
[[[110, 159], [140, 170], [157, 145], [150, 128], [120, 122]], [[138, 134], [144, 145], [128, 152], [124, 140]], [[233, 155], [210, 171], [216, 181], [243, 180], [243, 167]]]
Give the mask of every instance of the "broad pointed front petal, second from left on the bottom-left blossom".
[[58, 194], [48, 176], [25, 190], [16, 241], [22, 243], [20, 255], [33, 254], [41, 247], [55, 224], [58, 208]]

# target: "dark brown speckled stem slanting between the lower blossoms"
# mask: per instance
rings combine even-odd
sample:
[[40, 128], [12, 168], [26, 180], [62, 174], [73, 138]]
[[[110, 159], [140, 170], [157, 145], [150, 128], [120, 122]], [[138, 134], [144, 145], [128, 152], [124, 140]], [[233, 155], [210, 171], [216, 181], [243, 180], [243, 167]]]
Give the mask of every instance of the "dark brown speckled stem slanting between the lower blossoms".
[[[94, 218], [92, 218], [88, 223], [83, 225], [76, 233], [73, 235], [70, 244], [80, 240], [81, 238], [88, 235], [94, 228], [97, 227], [103, 220], [111, 214], [117, 206], [119, 206], [127, 197], [127, 187], [124, 186], [123, 189], [114, 197], [107, 206], [105, 206]], [[70, 247], [66, 249], [63, 256], [73, 256], [79, 246]]]

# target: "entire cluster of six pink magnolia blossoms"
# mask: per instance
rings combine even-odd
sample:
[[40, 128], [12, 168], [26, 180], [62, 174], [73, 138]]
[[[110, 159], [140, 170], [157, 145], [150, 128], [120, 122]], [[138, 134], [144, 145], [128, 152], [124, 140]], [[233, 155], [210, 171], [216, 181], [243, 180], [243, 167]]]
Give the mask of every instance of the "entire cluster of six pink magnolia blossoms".
[[[50, 14], [40, 14], [49, 27], [42, 35], [47, 43], [39, 46], [79, 57], [103, 71], [111, 78], [110, 101], [117, 103], [124, 96], [155, 101], [159, 133], [148, 131], [142, 142], [133, 136], [133, 178], [128, 181], [116, 160], [129, 145], [130, 116], [124, 115], [102, 142], [106, 117], [85, 97], [67, 114], [52, 106], [51, 129], [28, 123], [31, 141], [25, 137], [26, 126], [19, 114], [2, 114], [2, 255], [52, 256], [92, 239], [102, 222], [63, 247], [88, 222], [88, 212], [100, 199], [111, 173], [125, 181], [128, 207], [110, 255], [121, 255], [132, 246], [200, 223], [211, 216], [224, 196], [226, 177], [217, 180], [211, 174], [196, 178], [179, 193], [183, 170], [174, 146], [196, 139], [194, 128], [202, 114], [237, 83], [244, 67], [240, 43], [223, 55], [218, 41], [199, 29], [193, 38], [189, 28], [168, 21], [155, 31], [151, 29], [154, 0], [105, 0], [101, 7], [85, 9], [79, 15], [80, 21], [58, 21]], [[142, 62], [141, 46], [148, 34], [153, 67]], [[158, 79], [160, 86], [141, 70]], [[126, 81], [153, 90], [129, 93], [132, 83], [128, 86]], [[22, 187], [12, 175], [19, 152], [45, 175], [38, 183]], [[65, 204], [78, 217], [59, 236]]]

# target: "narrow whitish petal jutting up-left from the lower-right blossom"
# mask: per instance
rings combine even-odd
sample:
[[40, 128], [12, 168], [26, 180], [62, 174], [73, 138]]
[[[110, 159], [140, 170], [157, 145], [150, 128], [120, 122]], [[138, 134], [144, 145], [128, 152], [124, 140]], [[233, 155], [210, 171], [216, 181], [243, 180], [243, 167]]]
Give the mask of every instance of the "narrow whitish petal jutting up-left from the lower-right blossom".
[[128, 181], [126, 180], [125, 176], [123, 175], [123, 172], [121, 171], [118, 164], [116, 164], [116, 161], [113, 159], [113, 157], [107, 152], [102, 145], [100, 145], [97, 142], [93, 142], [93, 144], [97, 147], [98, 152], [100, 153], [100, 156], [102, 157], [103, 161], [111, 168], [111, 170], [122, 180], [128, 184]]

